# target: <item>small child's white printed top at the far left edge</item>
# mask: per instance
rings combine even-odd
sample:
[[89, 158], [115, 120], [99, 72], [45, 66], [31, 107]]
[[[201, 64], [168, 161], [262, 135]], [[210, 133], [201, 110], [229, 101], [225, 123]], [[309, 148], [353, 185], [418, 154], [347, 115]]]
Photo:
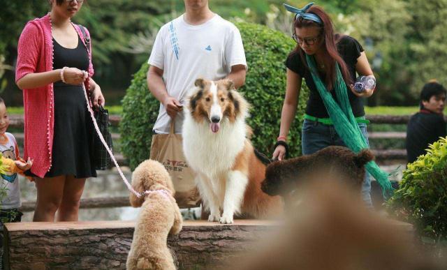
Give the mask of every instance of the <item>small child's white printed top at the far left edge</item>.
[[[17, 160], [19, 158], [19, 147], [15, 142], [15, 137], [11, 133], [5, 133], [8, 137], [8, 142], [0, 144], [0, 153], [5, 158]], [[17, 173], [6, 172], [0, 174], [1, 188], [7, 188], [6, 197], [0, 202], [0, 209], [15, 209], [21, 206], [20, 204], [20, 186], [19, 177]]]

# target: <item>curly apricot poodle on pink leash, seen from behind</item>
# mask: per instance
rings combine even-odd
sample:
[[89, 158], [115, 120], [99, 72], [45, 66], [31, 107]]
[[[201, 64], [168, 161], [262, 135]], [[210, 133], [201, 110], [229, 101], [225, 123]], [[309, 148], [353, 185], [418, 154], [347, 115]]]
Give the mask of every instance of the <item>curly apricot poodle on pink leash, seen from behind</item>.
[[152, 191], [140, 198], [131, 193], [133, 207], [142, 207], [133, 232], [127, 269], [175, 269], [167, 246], [168, 234], [182, 230], [182, 215], [173, 197], [174, 186], [161, 163], [145, 160], [132, 174], [132, 187], [138, 193]]

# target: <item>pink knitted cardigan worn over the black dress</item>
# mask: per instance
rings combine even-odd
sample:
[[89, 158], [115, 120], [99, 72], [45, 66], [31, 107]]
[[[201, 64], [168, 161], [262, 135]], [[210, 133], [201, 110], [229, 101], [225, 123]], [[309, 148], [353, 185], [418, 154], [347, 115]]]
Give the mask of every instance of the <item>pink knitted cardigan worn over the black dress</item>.
[[[82, 43], [85, 45], [82, 31], [73, 24]], [[90, 36], [89, 32], [87, 36]], [[19, 38], [17, 47], [17, 67], [15, 82], [29, 73], [42, 73], [53, 70], [52, 23], [50, 15], [34, 19], [27, 23]], [[91, 47], [89, 50], [89, 77], [94, 70], [91, 64]], [[89, 89], [86, 80], [85, 89]], [[31, 172], [43, 178], [51, 168], [54, 95], [53, 84], [45, 87], [23, 90], [24, 105], [24, 156], [34, 159]]]

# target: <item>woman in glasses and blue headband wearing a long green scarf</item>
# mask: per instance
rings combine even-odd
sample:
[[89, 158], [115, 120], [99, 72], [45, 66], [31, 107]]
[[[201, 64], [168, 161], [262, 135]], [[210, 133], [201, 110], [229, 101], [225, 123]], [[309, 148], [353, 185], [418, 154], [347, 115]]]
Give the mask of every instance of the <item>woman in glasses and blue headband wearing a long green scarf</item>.
[[[282, 160], [286, 155], [288, 130], [295, 117], [303, 78], [310, 94], [302, 126], [302, 154], [312, 154], [330, 145], [349, 147], [355, 152], [367, 148], [367, 121], [362, 98], [371, 96], [374, 89], [362, 93], [353, 89], [356, 73], [373, 75], [362, 45], [351, 36], [335, 34], [332, 21], [323, 8], [313, 6], [313, 3], [302, 9], [284, 6], [296, 14], [293, 38], [297, 46], [286, 60], [286, 98], [273, 158]], [[369, 167], [380, 170], [375, 163]], [[373, 173], [369, 167], [368, 172]], [[377, 173], [388, 188], [386, 174]], [[367, 173], [362, 197], [369, 207], [372, 206], [370, 190]]]

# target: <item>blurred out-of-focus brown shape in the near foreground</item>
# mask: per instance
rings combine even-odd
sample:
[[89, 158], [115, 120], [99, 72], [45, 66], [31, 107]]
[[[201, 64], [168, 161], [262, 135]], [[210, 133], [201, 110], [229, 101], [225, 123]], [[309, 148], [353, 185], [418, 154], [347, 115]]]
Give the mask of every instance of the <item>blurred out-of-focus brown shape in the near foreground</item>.
[[231, 269], [447, 269], [416, 248], [411, 225], [369, 211], [340, 181], [312, 181], [300, 191], [300, 203], [288, 212], [285, 227]]

